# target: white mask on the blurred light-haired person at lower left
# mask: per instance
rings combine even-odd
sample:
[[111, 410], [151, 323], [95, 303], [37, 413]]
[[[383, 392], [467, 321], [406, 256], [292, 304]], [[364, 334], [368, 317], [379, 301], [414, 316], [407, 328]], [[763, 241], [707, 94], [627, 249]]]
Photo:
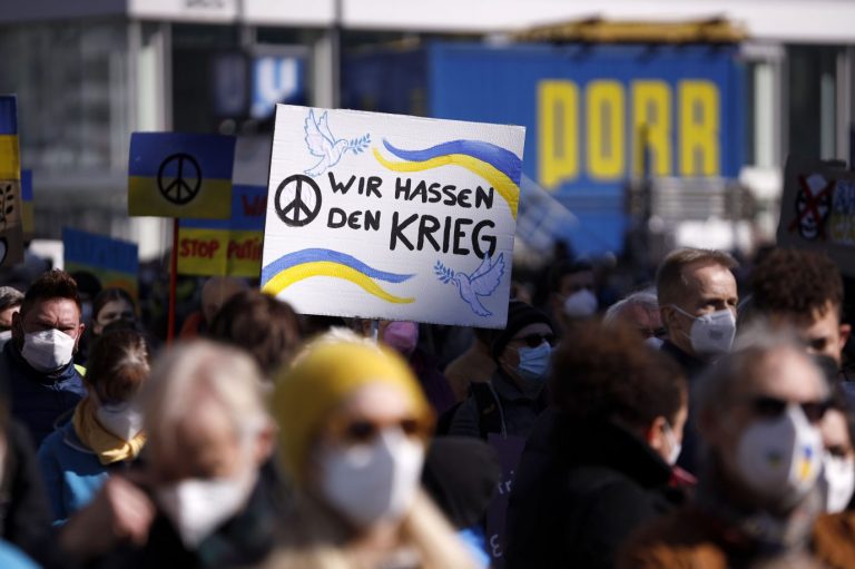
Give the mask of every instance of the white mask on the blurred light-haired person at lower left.
[[164, 513], [187, 549], [195, 550], [246, 503], [255, 485], [255, 469], [236, 478], [186, 479], [156, 490]]

